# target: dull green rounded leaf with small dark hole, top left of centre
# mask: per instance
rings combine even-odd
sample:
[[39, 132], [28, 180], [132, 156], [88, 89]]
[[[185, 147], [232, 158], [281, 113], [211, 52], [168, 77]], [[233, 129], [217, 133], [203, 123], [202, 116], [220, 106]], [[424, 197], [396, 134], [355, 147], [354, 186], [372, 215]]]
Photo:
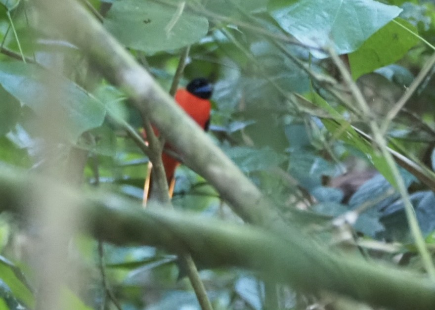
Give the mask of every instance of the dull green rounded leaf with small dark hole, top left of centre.
[[207, 18], [192, 15], [181, 4], [145, 0], [115, 1], [104, 25], [121, 43], [147, 53], [198, 42], [209, 28]]

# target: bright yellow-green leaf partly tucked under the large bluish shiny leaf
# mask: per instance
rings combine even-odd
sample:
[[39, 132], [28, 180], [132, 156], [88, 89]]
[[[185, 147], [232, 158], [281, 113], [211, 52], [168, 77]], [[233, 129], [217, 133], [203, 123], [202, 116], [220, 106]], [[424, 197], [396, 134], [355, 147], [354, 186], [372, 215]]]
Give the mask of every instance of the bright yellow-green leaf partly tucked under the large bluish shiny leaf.
[[412, 46], [418, 43], [417, 36], [400, 25], [417, 34], [417, 29], [413, 25], [397, 18], [348, 55], [350, 71], [354, 80], [365, 73], [399, 60]]

